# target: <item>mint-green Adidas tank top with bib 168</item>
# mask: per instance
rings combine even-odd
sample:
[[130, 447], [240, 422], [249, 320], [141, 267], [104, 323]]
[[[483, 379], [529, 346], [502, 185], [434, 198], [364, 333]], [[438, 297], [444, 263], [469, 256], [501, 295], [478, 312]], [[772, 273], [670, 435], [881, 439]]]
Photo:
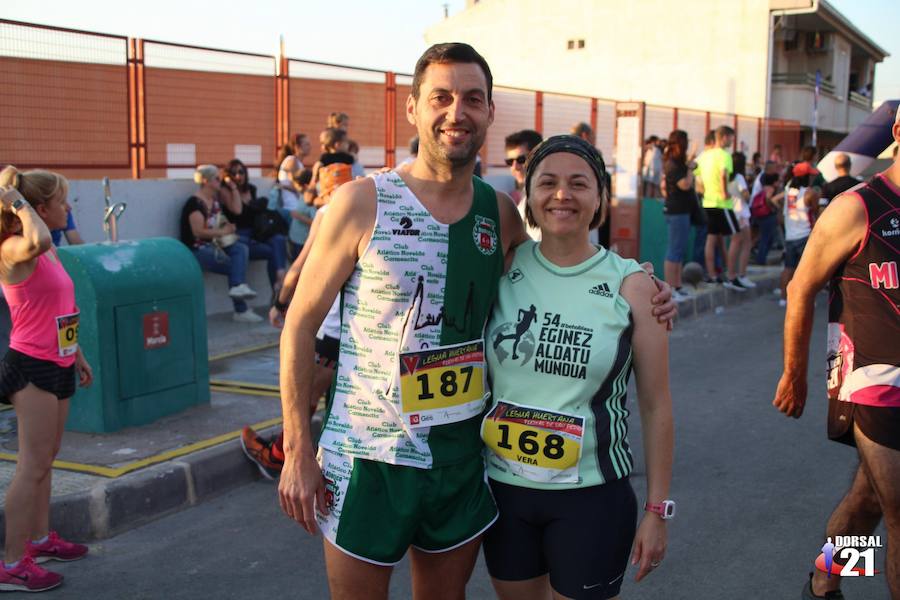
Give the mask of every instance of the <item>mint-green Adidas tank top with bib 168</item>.
[[631, 472], [625, 393], [633, 324], [619, 288], [637, 271], [637, 262], [604, 248], [573, 267], [551, 263], [536, 242], [516, 249], [485, 339], [488, 476], [565, 489]]

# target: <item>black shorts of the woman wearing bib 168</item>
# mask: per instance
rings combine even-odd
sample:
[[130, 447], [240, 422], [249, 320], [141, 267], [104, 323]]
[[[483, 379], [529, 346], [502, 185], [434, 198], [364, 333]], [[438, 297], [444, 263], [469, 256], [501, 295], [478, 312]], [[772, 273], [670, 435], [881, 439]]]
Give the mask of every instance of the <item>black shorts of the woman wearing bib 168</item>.
[[491, 577], [523, 581], [550, 574], [569, 598], [619, 593], [637, 523], [628, 478], [569, 490], [535, 490], [489, 480], [500, 517], [484, 537]]

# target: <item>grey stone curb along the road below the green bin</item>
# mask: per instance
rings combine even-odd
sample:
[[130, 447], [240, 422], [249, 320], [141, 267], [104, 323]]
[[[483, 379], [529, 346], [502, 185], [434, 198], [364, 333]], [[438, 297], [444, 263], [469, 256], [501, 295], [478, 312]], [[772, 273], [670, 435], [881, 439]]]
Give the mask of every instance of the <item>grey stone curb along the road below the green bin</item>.
[[[321, 416], [313, 419], [318, 437]], [[275, 432], [277, 428], [264, 430]], [[118, 479], [52, 498], [50, 526], [67, 539], [91, 542], [113, 537], [261, 479], [240, 440], [154, 465]], [[0, 512], [0, 534], [5, 529]]]

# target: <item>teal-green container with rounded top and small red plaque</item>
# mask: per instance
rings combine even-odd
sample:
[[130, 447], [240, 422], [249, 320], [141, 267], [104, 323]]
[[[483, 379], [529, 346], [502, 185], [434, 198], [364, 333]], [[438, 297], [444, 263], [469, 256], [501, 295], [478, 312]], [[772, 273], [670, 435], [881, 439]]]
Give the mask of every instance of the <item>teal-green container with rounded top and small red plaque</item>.
[[81, 310], [78, 343], [94, 373], [72, 398], [66, 429], [150, 423], [209, 403], [203, 275], [178, 240], [59, 249]]

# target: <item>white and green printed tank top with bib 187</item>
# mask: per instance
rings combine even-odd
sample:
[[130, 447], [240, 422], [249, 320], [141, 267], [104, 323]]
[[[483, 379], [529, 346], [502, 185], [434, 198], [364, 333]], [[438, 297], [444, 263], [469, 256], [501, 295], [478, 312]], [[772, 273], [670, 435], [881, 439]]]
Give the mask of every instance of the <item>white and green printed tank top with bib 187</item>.
[[394, 172], [376, 175], [372, 240], [341, 292], [335, 385], [319, 445], [431, 468], [481, 452], [484, 324], [503, 273], [493, 188], [436, 221]]

